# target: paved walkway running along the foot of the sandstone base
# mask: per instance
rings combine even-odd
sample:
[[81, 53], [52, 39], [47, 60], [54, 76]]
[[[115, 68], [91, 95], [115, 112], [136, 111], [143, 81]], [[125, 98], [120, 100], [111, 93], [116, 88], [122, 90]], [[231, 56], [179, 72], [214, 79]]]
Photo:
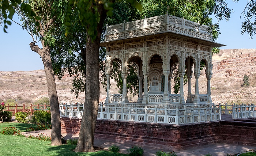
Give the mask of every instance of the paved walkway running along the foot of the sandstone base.
[[[23, 134], [29, 135], [33, 134], [37, 136], [38, 134], [45, 134], [47, 136], [51, 135], [51, 130], [39, 130], [34, 132], [24, 132]], [[78, 138], [78, 135], [72, 134], [62, 134], [65, 139], [69, 138]], [[109, 142], [108, 140], [94, 140], [94, 145], [96, 147], [101, 147], [103, 149], [108, 149], [112, 145], [117, 145], [122, 153], [127, 153], [128, 148], [132, 147], [132, 144], [121, 144], [117, 142]], [[157, 149], [154, 147], [142, 147], [144, 149], [144, 156], [154, 156], [157, 151], [165, 151], [170, 152], [172, 149]], [[256, 149], [255, 146], [248, 146], [248, 145], [231, 145], [231, 144], [224, 144], [224, 143], [217, 143], [217, 144], [209, 144], [202, 147], [193, 147], [181, 151], [175, 151], [178, 156], [203, 156], [210, 153], [212, 156], [227, 156], [229, 154], [241, 153], [245, 151], [249, 151], [252, 149]]]

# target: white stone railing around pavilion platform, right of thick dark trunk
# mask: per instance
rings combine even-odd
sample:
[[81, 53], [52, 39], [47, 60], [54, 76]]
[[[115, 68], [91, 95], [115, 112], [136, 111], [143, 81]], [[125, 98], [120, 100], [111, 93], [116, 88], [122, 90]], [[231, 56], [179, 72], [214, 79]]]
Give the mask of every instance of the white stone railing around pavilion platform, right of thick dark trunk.
[[101, 105], [99, 110], [97, 119], [103, 120], [165, 123], [172, 125], [221, 120], [219, 108], [213, 104], [209, 106], [202, 105], [200, 107], [184, 106], [181, 108], [180, 105], [172, 105], [172, 108]]

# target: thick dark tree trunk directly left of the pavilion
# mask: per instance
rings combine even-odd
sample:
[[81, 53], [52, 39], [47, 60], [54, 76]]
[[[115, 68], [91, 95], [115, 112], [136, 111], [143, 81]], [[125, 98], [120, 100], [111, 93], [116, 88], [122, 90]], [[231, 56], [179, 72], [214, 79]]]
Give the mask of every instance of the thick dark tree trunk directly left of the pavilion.
[[106, 11], [98, 6], [100, 22], [97, 25], [97, 38], [92, 41], [87, 36], [86, 43], [86, 90], [83, 117], [76, 152], [94, 152], [94, 132], [99, 104], [99, 42], [101, 41], [103, 22]]

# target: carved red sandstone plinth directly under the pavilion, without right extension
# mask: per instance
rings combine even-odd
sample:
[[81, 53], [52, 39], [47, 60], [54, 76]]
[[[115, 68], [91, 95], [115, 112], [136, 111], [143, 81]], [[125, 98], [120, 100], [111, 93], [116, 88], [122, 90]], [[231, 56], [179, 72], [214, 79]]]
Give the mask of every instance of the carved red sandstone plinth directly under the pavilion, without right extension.
[[[79, 134], [80, 119], [61, 118], [64, 133]], [[219, 122], [190, 125], [97, 120], [95, 139], [176, 150], [219, 142]]]

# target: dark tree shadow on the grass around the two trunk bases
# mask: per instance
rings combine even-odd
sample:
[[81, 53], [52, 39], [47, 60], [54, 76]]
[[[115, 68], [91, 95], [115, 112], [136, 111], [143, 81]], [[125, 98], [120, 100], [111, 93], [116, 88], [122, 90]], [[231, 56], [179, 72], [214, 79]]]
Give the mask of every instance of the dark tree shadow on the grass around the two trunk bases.
[[54, 152], [57, 156], [127, 156], [122, 153], [115, 153], [109, 151], [98, 151], [98, 152], [74, 152], [76, 145], [61, 145], [53, 146], [48, 148], [48, 152]]

